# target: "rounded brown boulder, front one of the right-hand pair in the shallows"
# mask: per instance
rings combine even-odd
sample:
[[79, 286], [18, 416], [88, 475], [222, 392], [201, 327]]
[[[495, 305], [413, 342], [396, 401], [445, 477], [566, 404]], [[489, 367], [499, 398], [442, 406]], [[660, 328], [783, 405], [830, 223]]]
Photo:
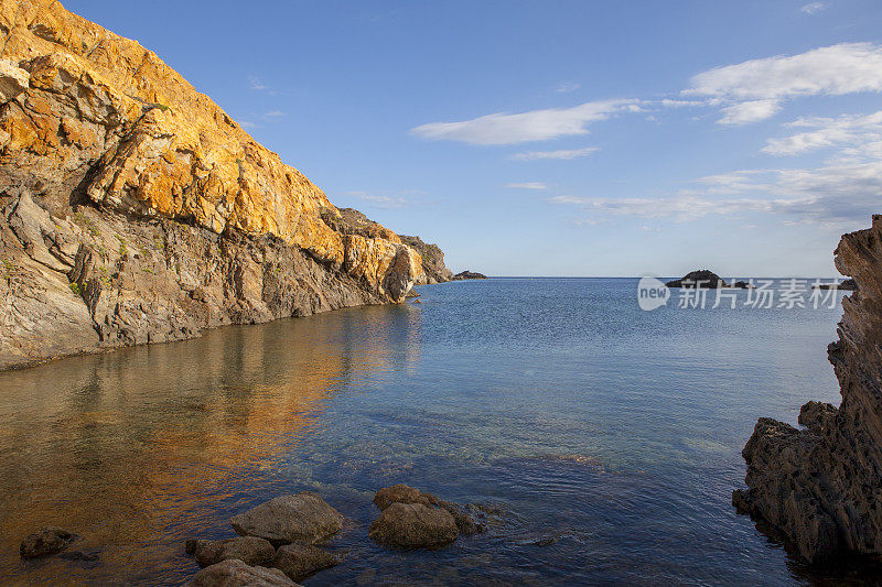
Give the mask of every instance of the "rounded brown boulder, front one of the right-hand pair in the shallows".
[[385, 546], [439, 548], [460, 535], [449, 511], [421, 503], [392, 503], [370, 524], [370, 537]]

